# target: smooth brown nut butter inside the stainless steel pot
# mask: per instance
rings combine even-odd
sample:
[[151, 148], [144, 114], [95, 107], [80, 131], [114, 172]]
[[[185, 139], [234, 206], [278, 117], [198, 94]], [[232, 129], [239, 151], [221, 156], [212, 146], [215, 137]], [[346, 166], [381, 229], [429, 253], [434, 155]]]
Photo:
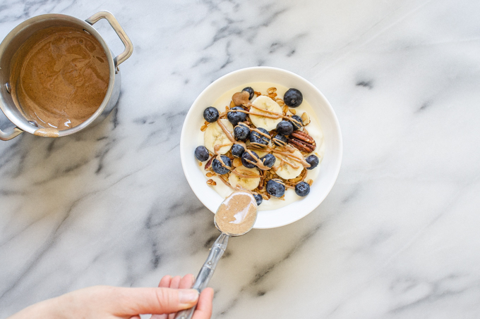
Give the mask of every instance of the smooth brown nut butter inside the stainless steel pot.
[[35, 135], [56, 137], [102, 104], [109, 85], [107, 55], [88, 32], [49, 27], [20, 46], [11, 61], [10, 82], [14, 103], [39, 127]]

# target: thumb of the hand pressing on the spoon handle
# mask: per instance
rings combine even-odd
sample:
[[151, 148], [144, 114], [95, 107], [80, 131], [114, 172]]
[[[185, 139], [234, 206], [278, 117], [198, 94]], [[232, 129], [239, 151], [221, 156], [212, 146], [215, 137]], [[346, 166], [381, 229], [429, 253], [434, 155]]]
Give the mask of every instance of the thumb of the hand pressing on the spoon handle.
[[119, 315], [139, 313], [175, 313], [193, 307], [198, 301], [196, 289], [118, 288], [118, 304], [112, 312]]

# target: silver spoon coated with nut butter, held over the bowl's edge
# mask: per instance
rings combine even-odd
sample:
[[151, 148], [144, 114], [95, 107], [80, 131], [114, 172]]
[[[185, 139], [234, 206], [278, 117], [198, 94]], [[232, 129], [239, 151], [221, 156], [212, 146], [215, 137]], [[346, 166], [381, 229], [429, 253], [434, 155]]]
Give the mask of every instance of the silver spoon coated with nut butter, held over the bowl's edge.
[[[238, 190], [230, 194], [215, 213], [215, 227], [222, 234], [215, 240], [210, 249], [210, 254], [197, 275], [193, 289], [202, 292], [212, 278], [215, 267], [227, 249], [230, 236], [241, 236], [249, 232], [257, 220], [258, 206], [251, 192]], [[175, 319], [191, 319], [196, 306], [184, 311], [179, 311]]]

